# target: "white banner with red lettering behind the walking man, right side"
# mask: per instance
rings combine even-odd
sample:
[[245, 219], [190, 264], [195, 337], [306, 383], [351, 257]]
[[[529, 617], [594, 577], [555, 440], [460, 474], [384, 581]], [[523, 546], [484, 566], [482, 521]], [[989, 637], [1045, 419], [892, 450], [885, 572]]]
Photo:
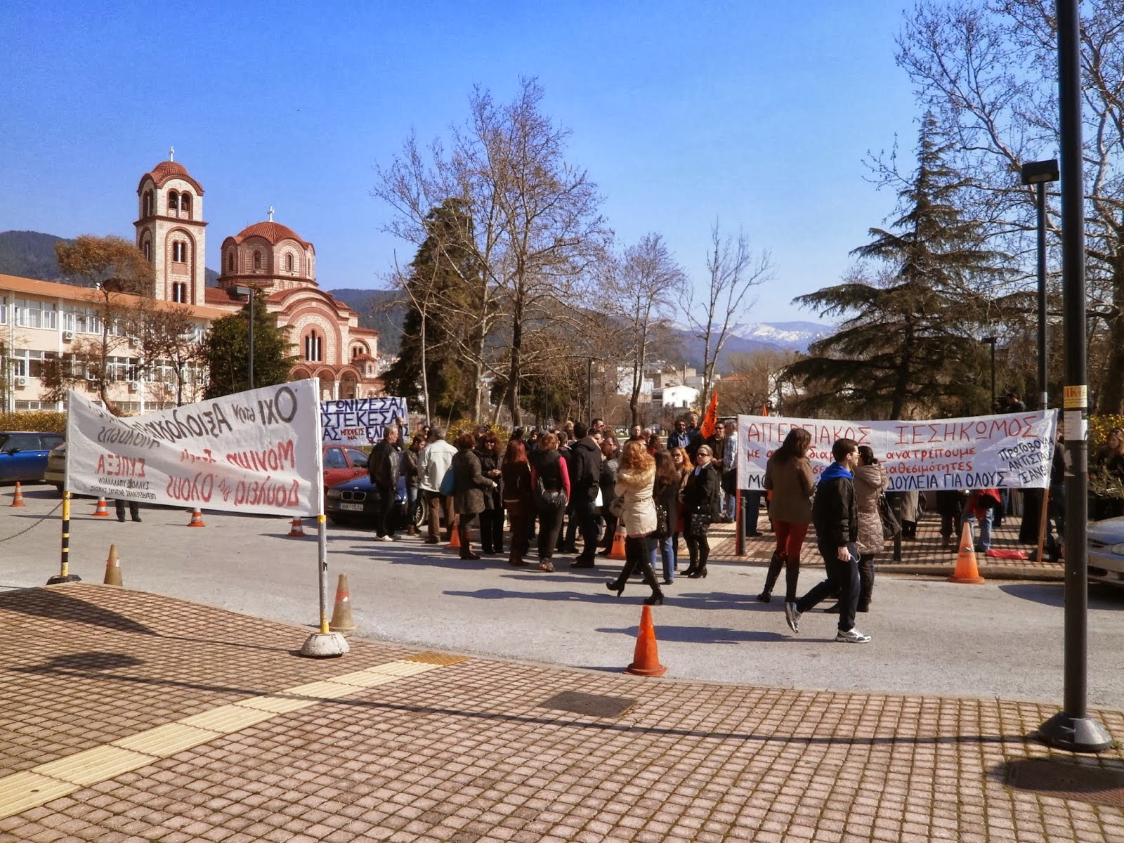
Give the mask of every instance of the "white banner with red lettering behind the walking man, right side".
[[737, 417], [737, 480], [762, 489], [765, 463], [789, 430], [812, 434], [808, 460], [818, 477], [833, 462], [832, 443], [870, 445], [886, 468], [889, 491], [1028, 489], [1050, 484], [1058, 410], [930, 422], [840, 422], [780, 416]]

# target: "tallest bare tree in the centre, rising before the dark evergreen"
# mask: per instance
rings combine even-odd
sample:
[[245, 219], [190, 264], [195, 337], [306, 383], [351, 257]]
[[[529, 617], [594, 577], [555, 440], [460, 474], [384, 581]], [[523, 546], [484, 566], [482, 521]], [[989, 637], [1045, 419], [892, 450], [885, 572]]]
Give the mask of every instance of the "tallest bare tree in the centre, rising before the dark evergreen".
[[569, 133], [543, 115], [542, 98], [533, 79], [520, 80], [506, 106], [477, 88], [470, 118], [454, 129], [447, 153], [438, 142], [423, 153], [411, 137], [401, 155], [378, 169], [373, 189], [395, 209], [388, 229], [418, 244], [430, 208], [452, 198], [464, 209], [457, 241], [471, 244], [480, 277], [465, 279], [470, 307], [438, 310], [460, 328], [451, 334], [478, 384], [477, 417], [480, 384], [490, 373], [506, 384], [514, 424], [519, 423], [524, 369], [533, 362], [525, 359], [528, 334], [547, 315], [569, 318], [610, 234], [596, 185], [565, 162]]

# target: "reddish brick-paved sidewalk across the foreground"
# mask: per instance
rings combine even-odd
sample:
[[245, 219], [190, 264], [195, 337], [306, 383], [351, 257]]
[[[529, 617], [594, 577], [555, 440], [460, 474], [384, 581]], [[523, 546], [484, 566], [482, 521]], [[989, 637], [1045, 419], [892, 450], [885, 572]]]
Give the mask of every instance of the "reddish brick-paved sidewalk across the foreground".
[[0, 595], [0, 841], [1124, 840], [1124, 789], [1006, 786], [1024, 759], [1124, 774], [1034, 741], [1042, 705], [307, 661], [308, 629], [84, 583]]

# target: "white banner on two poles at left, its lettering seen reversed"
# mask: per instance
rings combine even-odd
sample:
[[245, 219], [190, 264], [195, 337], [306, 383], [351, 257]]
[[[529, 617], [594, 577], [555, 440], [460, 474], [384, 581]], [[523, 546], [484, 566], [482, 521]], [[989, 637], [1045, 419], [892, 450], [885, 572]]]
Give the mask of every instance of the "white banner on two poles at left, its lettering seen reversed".
[[166, 506], [318, 515], [318, 391], [314, 378], [129, 418], [71, 391], [66, 488]]

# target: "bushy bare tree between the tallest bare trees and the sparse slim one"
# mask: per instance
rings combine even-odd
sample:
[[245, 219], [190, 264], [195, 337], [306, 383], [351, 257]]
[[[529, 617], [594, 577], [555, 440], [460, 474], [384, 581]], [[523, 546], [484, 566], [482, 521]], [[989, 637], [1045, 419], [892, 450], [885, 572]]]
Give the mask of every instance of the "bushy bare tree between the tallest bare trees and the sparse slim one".
[[669, 327], [672, 307], [682, 299], [687, 275], [659, 234], [645, 235], [614, 265], [606, 289], [613, 293], [613, 317], [620, 320], [624, 334], [624, 354], [618, 359], [632, 370], [628, 409], [632, 423], [638, 425], [644, 368], [654, 341]]

